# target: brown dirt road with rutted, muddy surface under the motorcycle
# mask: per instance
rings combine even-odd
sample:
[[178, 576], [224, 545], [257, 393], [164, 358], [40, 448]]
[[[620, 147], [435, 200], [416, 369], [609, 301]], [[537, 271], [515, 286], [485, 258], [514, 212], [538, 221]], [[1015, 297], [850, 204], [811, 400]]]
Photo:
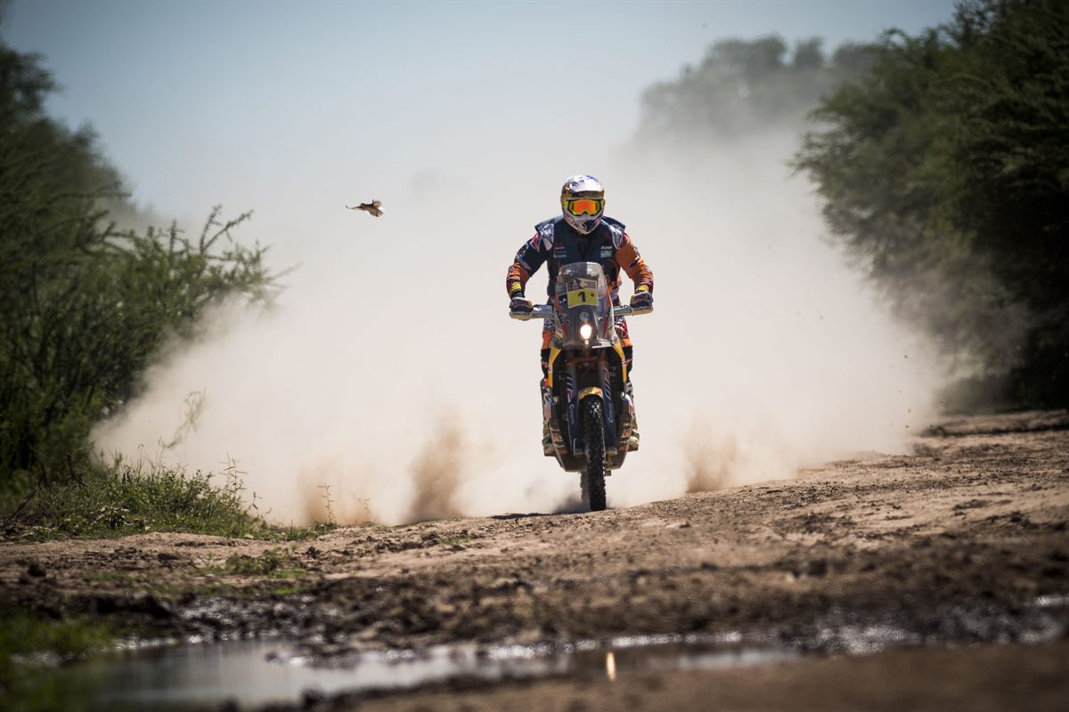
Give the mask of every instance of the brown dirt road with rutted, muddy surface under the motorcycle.
[[[877, 689], [890, 674], [905, 678], [898, 692], [920, 685], [924, 676], [910, 671], [918, 655], [939, 663], [926, 669], [946, 670], [924, 689], [964, 695], [955, 705], [982, 709], [986, 699], [1000, 709], [990, 691], [1012, 689], [1018, 709], [1045, 709], [1069, 695], [1067, 526], [1069, 414], [1024, 413], [945, 423], [910, 456], [871, 455], [792, 480], [606, 512], [345, 527], [290, 544], [159, 534], [9, 542], [0, 544], [0, 595], [176, 635], [277, 633], [321, 654], [665, 633], [833, 654], [1042, 644], [821, 656], [779, 664], [793, 673], [775, 676], [778, 687], [762, 682], [771, 668], [758, 667], [639, 675], [604, 694], [605, 680], [513, 682], [463, 698], [435, 689], [373, 702], [382, 709], [500, 709], [536, 689], [561, 705], [578, 699], [567, 708], [575, 710], [704, 709], [713, 699], [775, 709], [771, 697], [752, 708], [725, 690], [780, 690], [786, 702], [817, 680], [824, 692], [838, 685], [843, 699], [868, 691], [871, 709], [890, 709], [876, 703], [889, 699]], [[254, 570], [263, 561], [270, 565]], [[996, 684], [1003, 678], [1013, 685]]]

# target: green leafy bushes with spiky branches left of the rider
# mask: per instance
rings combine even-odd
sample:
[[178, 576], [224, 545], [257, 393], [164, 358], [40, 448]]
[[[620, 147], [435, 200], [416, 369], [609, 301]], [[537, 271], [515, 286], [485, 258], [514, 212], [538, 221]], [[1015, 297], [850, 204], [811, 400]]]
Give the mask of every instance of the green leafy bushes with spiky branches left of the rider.
[[[53, 90], [40, 58], [0, 44], [6, 494], [97, 481], [104, 471], [91, 465], [90, 428], [135, 394], [167, 341], [190, 336], [205, 308], [228, 296], [266, 300], [273, 289], [265, 250], [231, 236], [248, 215], [222, 220], [216, 208], [193, 240], [173, 224], [136, 234], [108, 222], [107, 208], [123, 200], [119, 174], [99, 156], [91, 129], [72, 132], [45, 115]], [[121, 476], [105, 490], [124, 487]]]

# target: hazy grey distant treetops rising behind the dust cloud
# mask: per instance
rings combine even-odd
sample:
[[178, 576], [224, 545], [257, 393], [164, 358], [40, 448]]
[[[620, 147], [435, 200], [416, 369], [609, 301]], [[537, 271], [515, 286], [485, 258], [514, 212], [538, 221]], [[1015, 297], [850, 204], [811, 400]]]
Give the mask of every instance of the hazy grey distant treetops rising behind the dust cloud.
[[861, 45], [842, 45], [828, 58], [818, 38], [797, 43], [790, 57], [787, 44], [775, 35], [718, 42], [700, 64], [685, 66], [678, 80], [646, 91], [639, 139], [690, 142], [794, 128], [869, 58], [870, 50]]

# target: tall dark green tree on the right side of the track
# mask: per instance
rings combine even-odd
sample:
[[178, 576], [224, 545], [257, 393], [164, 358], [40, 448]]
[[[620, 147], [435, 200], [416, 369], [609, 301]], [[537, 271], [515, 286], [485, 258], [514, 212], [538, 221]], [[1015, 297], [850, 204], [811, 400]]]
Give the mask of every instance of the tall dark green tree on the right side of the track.
[[1069, 4], [886, 34], [797, 165], [837, 239], [1004, 406], [1069, 404]]

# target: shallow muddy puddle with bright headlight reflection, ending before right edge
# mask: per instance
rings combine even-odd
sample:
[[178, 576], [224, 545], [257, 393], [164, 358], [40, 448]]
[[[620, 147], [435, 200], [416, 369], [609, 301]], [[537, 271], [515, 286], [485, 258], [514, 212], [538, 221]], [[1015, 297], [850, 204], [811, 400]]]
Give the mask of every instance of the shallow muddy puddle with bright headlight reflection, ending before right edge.
[[298, 645], [231, 640], [115, 653], [59, 668], [49, 680], [69, 710], [250, 709], [458, 679], [498, 682], [745, 667], [799, 653], [742, 636], [633, 636], [543, 645], [437, 646], [317, 659]]

